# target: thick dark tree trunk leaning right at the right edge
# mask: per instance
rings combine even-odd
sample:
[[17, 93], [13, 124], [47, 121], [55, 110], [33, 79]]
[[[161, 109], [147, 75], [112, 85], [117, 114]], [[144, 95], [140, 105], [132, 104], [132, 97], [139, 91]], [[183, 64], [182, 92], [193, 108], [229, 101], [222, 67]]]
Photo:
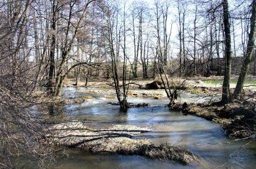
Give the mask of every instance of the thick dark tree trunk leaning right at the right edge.
[[256, 0], [252, 1], [251, 7], [252, 8], [251, 8], [251, 16], [250, 16], [250, 33], [248, 36], [245, 58], [240, 70], [238, 81], [235, 86], [233, 98], [237, 98], [242, 91], [245, 76], [248, 72], [249, 63], [251, 62], [251, 57], [253, 54], [255, 34], [256, 34]]

